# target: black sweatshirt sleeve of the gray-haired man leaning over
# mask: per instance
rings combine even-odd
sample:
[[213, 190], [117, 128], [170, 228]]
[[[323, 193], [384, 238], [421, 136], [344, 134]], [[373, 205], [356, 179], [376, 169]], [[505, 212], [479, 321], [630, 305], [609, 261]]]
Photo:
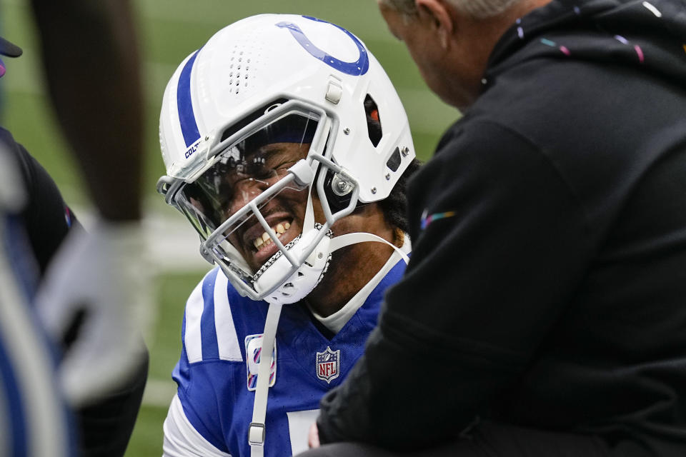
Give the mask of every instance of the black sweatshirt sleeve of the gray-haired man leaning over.
[[582, 278], [593, 240], [555, 164], [502, 126], [469, 128], [410, 184], [412, 259], [364, 356], [322, 399], [323, 443], [456, 438], [525, 370]]

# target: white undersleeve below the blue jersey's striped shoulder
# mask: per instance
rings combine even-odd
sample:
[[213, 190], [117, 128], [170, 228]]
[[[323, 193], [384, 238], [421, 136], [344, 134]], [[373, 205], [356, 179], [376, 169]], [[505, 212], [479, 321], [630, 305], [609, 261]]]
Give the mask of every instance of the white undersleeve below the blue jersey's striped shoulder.
[[231, 457], [212, 446], [189, 422], [179, 396], [174, 396], [164, 420], [163, 457]]

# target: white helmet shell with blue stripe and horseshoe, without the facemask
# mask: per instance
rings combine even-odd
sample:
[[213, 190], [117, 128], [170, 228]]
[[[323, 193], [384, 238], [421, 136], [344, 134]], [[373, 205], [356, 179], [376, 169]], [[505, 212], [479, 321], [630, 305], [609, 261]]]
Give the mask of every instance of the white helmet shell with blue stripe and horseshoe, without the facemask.
[[[367, 97], [382, 126], [376, 146]], [[362, 41], [309, 16], [262, 14], [218, 31], [174, 72], [160, 114], [166, 174], [193, 181], [227, 129], [281, 99], [308, 101], [336, 121], [326, 154], [358, 181], [359, 201], [386, 198], [415, 156], [397, 92]]]

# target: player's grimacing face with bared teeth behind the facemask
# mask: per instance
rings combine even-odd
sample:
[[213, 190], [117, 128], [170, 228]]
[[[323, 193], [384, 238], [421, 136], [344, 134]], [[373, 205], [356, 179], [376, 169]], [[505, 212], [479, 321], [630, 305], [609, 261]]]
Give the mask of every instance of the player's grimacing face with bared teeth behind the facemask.
[[[274, 143], [263, 146], [254, 154], [249, 154], [242, 169], [234, 170], [225, 176], [226, 186], [222, 194], [227, 199], [223, 205], [227, 209], [226, 217], [234, 214], [286, 176], [290, 167], [307, 156], [308, 150], [309, 144]], [[267, 224], [277, 233], [279, 241], [284, 245], [302, 233], [307, 192], [308, 189], [286, 187], [260, 208]], [[254, 216], [233, 231], [228, 241], [238, 249], [254, 271], [257, 271], [278, 249]]]

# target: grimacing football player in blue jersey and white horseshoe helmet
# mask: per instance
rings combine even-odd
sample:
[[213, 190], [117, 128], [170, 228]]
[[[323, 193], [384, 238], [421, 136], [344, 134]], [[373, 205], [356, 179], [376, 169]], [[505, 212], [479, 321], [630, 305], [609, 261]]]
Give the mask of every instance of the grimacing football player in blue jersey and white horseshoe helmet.
[[253, 16], [179, 65], [160, 142], [158, 190], [217, 264], [187, 301], [164, 455], [303, 451], [407, 261], [397, 93], [349, 31]]

